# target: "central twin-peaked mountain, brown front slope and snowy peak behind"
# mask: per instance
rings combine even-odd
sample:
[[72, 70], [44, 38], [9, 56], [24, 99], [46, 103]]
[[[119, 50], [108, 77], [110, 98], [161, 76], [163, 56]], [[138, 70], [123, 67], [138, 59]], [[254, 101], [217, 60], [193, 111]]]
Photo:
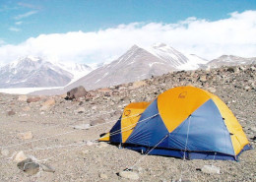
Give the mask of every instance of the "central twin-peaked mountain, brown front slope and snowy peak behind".
[[96, 69], [67, 90], [78, 86], [93, 90], [130, 83], [176, 70], [198, 69], [206, 63], [196, 55], [186, 56], [163, 43], [147, 49], [134, 45], [117, 60]]

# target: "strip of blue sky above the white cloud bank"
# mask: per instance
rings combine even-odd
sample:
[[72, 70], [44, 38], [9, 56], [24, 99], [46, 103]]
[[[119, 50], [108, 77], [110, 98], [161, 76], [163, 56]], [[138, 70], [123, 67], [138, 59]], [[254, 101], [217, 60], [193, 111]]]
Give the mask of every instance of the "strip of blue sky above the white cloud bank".
[[104, 30], [133, 22], [216, 21], [255, 10], [255, 0], [8, 0], [0, 1], [0, 39], [17, 44], [41, 33]]

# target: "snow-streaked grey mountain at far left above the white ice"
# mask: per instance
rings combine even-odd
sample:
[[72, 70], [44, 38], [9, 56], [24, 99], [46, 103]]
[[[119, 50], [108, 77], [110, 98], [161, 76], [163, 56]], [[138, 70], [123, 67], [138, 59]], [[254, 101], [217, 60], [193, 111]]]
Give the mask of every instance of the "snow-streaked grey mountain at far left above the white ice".
[[[85, 76], [90, 68], [43, 61], [39, 57], [27, 56], [0, 68], [0, 88], [48, 88], [64, 87], [77, 75]], [[76, 73], [77, 75], [75, 75]]]

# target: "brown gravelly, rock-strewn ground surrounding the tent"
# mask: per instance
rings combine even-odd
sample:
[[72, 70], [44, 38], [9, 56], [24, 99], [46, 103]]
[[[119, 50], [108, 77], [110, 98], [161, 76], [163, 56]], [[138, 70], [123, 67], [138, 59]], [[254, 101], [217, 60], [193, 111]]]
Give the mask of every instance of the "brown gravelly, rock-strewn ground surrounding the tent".
[[[90, 91], [86, 98], [76, 101], [65, 100], [65, 95], [0, 93], [0, 181], [130, 181], [116, 173], [140, 159], [131, 173], [138, 181], [256, 181], [255, 150], [242, 152], [239, 162], [182, 160], [145, 156], [94, 141], [99, 134], [109, 131], [129, 102], [150, 101], [163, 91], [187, 85], [219, 95], [255, 149], [255, 65], [169, 73]], [[74, 129], [77, 125], [86, 129], [90, 123], [94, 126], [87, 130]], [[25, 155], [36, 161], [33, 175], [17, 166]], [[45, 169], [44, 163], [50, 168]], [[220, 174], [202, 171], [204, 165], [212, 164], [220, 168]]]

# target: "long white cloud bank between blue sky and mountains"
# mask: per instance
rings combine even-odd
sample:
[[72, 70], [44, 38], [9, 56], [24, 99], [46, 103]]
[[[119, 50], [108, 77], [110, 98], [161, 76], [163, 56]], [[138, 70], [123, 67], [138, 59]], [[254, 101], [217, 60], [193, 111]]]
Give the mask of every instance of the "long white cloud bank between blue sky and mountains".
[[0, 47], [0, 60], [36, 55], [64, 62], [102, 62], [119, 57], [133, 44], [147, 47], [166, 43], [184, 53], [206, 59], [223, 54], [256, 56], [256, 11], [232, 13], [228, 19], [210, 22], [194, 17], [176, 24], [132, 23], [91, 32], [40, 34], [18, 45]]

